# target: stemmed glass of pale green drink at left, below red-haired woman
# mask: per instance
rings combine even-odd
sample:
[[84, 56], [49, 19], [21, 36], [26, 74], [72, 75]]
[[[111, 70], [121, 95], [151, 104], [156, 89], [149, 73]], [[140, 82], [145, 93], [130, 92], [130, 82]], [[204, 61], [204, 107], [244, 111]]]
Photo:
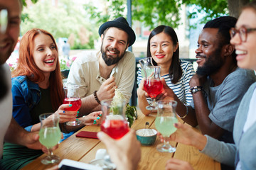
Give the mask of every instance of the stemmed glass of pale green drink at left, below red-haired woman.
[[59, 115], [53, 113], [44, 113], [39, 115], [41, 128], [39, 130], [39, 142], [48, 149], [48, 155], [41, 159], [42, 164], [57, 164], [60, 157], [53, 154], [53, 147], [61, 139], [59, 127]]

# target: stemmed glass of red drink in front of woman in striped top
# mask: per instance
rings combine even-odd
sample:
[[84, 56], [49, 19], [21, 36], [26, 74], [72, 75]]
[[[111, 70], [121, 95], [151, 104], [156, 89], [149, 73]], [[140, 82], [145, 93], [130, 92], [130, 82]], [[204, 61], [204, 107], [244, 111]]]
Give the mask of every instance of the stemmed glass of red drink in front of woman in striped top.
[[146, 72], [146, 79], [144, 81], [144, 89], [147, 94], [149, 94], [152, 99], [150, 106], [146, 106], [146, 109], [149, 111], [156, 109], [156, 96], [161, 94], [163, 91], [163, 84], [160, 79], [160, 66], [147, 66], [144, 67]]

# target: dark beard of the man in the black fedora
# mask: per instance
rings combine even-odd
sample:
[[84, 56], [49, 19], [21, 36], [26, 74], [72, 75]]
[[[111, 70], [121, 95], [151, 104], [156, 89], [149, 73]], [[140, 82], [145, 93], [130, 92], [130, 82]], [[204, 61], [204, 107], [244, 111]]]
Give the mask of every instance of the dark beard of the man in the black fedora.
[[[107, 51], [113, 51], [117, 57], [114, 57], [112, 55], [107, 55], [106, 52]], [[112, 64], [116, 64], [117, 62], [119, 62], [122, 57], [124, 57], [124, 52], [120, 52], [119, 50], [117, 50], [117, 48], [112, 48], [112, 47], [107, 47], [106, 50], [103, 49], [102, 45], [100, 47], [100, 52], [102, 53], [102, 58], [105, 61], [105, 63], [107, 64], [107, 66], [111, 66]]]

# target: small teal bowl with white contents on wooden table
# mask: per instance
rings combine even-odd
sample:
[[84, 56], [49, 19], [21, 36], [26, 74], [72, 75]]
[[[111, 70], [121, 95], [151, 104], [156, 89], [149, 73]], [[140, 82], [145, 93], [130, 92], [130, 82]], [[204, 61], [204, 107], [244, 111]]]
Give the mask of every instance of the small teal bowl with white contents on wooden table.
[[140, 129], [136, 131], [137, 140], [142, 145], [153, 145], [156, 141], [157, 131], [154, 129]]

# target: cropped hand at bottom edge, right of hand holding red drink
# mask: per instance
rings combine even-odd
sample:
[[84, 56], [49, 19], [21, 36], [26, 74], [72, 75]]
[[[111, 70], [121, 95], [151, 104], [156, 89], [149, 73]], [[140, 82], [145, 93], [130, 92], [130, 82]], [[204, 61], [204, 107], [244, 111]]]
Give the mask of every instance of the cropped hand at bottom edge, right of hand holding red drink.
[[166, 162], [166, 170], [193, 170], [193, 167], [188, 162], [172, 158]]

